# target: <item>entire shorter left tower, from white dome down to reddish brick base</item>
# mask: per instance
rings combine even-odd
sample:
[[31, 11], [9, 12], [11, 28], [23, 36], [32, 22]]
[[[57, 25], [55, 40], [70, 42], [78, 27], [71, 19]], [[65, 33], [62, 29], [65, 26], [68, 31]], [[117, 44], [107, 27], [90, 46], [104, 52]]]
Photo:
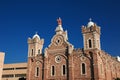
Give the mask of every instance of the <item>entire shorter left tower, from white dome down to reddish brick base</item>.
[[44, 39], [40, 39], [37, 33], [32, 38], [28, 38], [27, 80], [42, 80], [43, 44]]

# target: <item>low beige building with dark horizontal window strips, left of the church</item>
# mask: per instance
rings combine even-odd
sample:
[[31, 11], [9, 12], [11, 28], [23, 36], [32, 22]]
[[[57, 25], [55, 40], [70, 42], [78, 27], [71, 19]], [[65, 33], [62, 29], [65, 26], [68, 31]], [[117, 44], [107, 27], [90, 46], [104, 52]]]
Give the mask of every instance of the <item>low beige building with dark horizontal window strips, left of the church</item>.
[[2, 80], [18, 80], [26, 77], [27, 63], [4, 64]]

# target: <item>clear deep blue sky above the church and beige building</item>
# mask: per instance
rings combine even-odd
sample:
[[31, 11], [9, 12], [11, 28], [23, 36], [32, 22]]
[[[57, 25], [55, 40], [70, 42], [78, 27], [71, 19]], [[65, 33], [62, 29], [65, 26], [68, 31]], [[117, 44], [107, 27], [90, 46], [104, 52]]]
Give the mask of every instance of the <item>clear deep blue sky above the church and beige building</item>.
[[0, 51], [5, 52], [5, 63], [26, 62], [27, 39], [36, 32], [47, 47], [58, 17], [75, 48], [83, 48], [81, 26], [92, 18], [101, 27], [101, 48], [120, 56], [119, 0], [0, 0]]

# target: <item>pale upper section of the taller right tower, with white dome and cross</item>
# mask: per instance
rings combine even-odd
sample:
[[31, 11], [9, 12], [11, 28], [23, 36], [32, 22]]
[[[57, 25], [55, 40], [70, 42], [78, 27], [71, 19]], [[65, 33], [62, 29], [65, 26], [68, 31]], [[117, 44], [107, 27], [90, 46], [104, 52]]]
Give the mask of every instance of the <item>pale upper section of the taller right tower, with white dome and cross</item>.
[[84, 41], [84, 50], [98, 49], [100, 46], [100, 27], [90, 19], [87, 26], [82, 26], [82, 34]]

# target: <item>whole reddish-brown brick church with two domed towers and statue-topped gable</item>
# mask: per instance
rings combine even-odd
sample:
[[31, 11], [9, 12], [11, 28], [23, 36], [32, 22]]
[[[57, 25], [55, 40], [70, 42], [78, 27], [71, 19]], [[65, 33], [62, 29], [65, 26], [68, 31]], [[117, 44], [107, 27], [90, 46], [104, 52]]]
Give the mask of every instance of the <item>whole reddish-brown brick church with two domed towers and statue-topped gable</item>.
[[114, 80], [120, 78], [120, 62], [101, 50], [100, 27], [92, 22], [82, 26], [84, 48], [68, 42], [62, 20], [57, 19], [56, 34], [42, 53], [44, 39], [28, 38], [27, 80]]

